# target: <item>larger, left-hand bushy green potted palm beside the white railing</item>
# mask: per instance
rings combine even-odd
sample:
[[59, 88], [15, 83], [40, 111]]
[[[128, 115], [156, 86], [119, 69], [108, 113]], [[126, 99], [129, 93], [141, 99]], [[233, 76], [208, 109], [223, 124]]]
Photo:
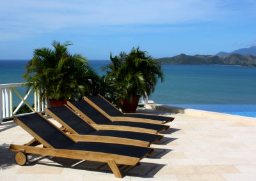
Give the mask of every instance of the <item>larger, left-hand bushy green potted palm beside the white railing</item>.
[[72, 45], [70, 41], [63, 44], [53, 41], [53, 50], [35, 49], [23, 75], [26, 85], [40, 92], [41, 101], [47, 99], [51, 106], [56, 101], [63, 104], [90, 94], [92, 82], [99, 78], [85, 57], [68, 52], [69, 45]]

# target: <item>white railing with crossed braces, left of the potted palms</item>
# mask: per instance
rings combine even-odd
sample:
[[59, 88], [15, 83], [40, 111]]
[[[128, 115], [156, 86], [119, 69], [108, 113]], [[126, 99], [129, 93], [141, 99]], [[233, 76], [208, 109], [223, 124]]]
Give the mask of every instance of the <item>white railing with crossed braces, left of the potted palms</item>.
[[[12, 118], [13, 115], [16, 115], [17, 111], [19, 110], [20, 106], [26, 104], [32, 112], [44, 112], [44, 108], [47, 107], [45, 103], [40, 102], [40, 97], [38, 92], [34, 92], [33, 89], [29, 89], [26, 95], [21, 96], [20, 92], [17, 91], [17, 87], [23, 87], [24, 83], [8, 83], [8, 84], [1, 84], [0, 85], [0, 123], [3, 122], [4, 119]], [[13, 92], [17, 94], [20, 98], [20, 103], [13, 111]], [[29, 105], [28, 101], [26, 100], [31, 92], [34, 93], [34, 108]]]

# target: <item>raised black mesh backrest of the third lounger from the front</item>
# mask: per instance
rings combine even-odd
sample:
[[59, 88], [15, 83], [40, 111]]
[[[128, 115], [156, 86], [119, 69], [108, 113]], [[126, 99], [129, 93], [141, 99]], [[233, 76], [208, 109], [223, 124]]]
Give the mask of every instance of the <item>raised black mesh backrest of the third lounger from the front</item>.
[[93, 120], [96, 124], [108, 124], [111, 122], [107, 117], [102, 115], [97, 109], [84, 100], [70, 102], [80, 112], [83, 112], [89, 119]]

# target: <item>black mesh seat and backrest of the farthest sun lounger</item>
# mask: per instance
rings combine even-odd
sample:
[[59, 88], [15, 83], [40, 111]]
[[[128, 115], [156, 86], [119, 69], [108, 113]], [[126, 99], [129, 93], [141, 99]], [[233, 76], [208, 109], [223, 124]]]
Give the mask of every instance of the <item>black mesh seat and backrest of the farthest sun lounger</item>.
[[[88, 97], [92, 103], [97, 105], [102, 111], [106, 112], [110, 117], [131, 117], [131, 118], [140, 118], [140, 119], [152, 119], [158, 120], [162, 124], [166, 124], [167, 122], [171, 122], [173, 117], [166, 117], [161, 115], [152, 115], [152, 114], [143, 114], [143, 113], [122, 113], [115, 106], [109, 103], [102, 96], [92, 96]], [[84, 99], [86, 100], [86, 98]]]

